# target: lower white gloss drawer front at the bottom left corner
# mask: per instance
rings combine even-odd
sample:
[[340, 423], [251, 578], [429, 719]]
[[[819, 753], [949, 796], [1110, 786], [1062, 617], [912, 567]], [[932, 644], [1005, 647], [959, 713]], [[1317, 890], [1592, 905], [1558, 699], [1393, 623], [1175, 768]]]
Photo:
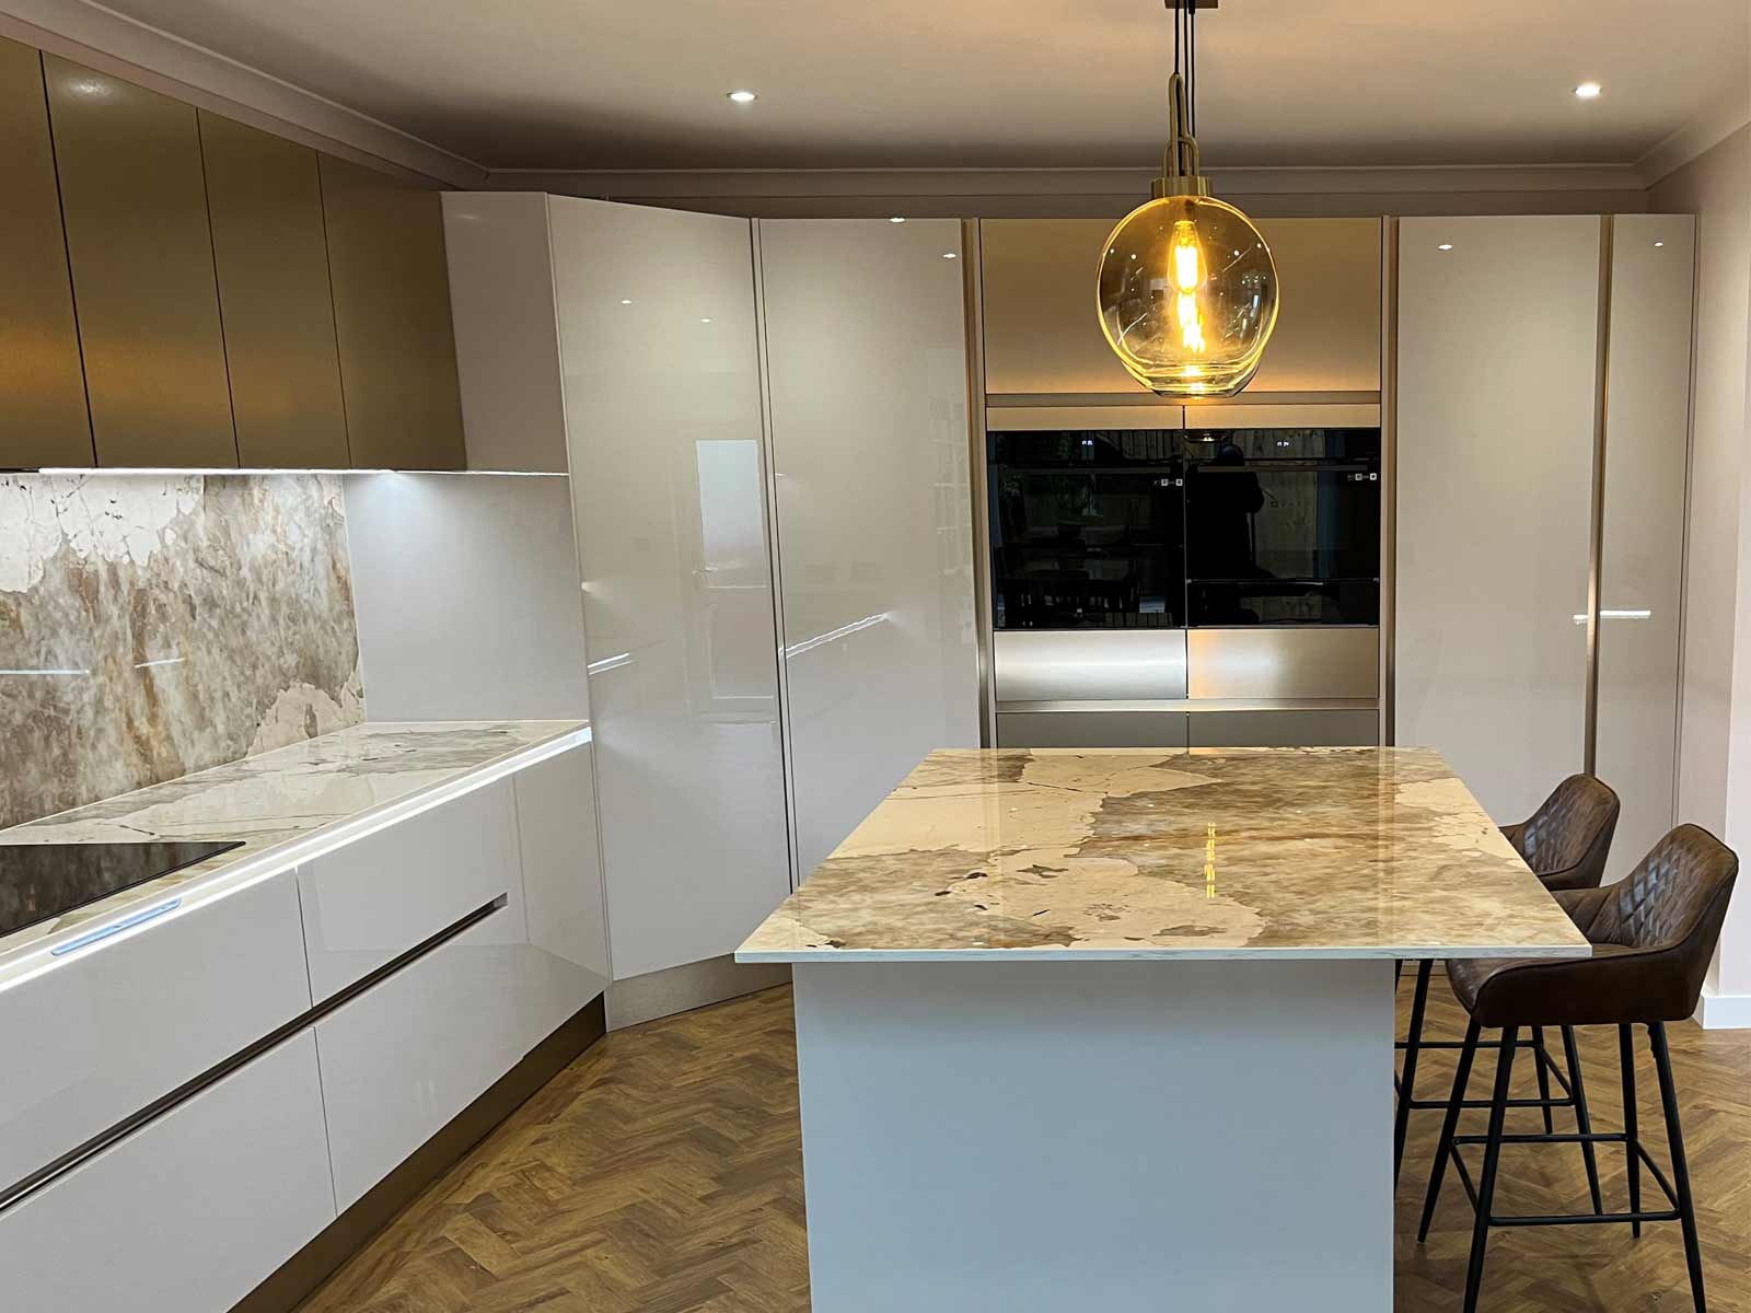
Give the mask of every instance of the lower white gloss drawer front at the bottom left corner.
[[299, 1031], [0, 1208], [0, 1308], [217, 1313], [334, 1220]]

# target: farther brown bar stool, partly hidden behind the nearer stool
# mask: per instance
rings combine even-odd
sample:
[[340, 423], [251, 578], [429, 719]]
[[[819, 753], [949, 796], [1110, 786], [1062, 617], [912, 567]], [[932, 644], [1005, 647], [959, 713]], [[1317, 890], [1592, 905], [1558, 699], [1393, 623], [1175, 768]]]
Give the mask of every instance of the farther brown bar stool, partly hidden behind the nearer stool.
[[[1609, 784], [1593, 776], [1569, 776], [1555, 791], [1544, 798], [1536, 812], [1518, 825], [1504, 825], [1502, 835], [1515, 846], [1532, 872], [1550, 891], [1557, 889], [1597, 889], [1606, 874], [1606, 858], [1611, 854], [1611, 837], [1618, 828], [1618, 814], [1623, 804]], [[1446, 1099], [1417, 1098], [1417, 1059], [1424, 1049], [1459, 1049], [1457, 1040], [1424, 1040], [1424, 1012], [1429, 1005], [1429, 975], [1432, 961], [1417, 963], [1417, 993], [1411, 998], [1411, 1028], [1404, 1040], [1397, 1043], [1404, 1050], [1404, 1075], [1397, 1080], [1399, 1108], [1392, 1127], [1392, 1180], [1397, 1182], [1404, 1166], [1404, 1138], [1410, 1133], [1413, 1110], [1446, 1108]], [[1403, 970], [1403, 965], [1401, 965]], [[1564, 1057], [1569, 1071], [1564, 1075], [1550, 1050], [1544, 1047], [1544, 1029], [1534, 1028], [1530, 1047], [1537, 1063], [1537, 1099], [1516, 1099], [1509, 1106], [1537, 1106], [1544, 1110], [1544, 1133], [1555, 1131], [1551, 1108], [1574, 1108], [1576, 1120], [1586, 1120], [1586, 1096], [1581, 1089], [1581, 1063], [1574, 1047], [1574, 1035], [1564, 1031]], [[1494, 1047], [1494, 1045], [1487, 1045]], [[1550, 1096], [1550, 1078], [1557, 1077], [1564, 1098]], [[1488, 1106], [1481, 1099], [1473, 1106]], [[1583, 1124], [1585, 1131], [1586, 1126]], [[1588, 1175], [1592, 1157], [1588, 1157]], [[1595, 1185], [1597, 1194], [1597, 1185]]]

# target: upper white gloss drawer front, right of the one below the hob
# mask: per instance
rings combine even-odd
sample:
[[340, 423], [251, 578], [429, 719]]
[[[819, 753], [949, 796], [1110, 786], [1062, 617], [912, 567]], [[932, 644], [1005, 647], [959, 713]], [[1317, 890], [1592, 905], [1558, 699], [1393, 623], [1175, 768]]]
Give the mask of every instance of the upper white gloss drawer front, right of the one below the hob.
[[313, 1000], [333, 998], [518, 882], [510, 779], [303, 863]]

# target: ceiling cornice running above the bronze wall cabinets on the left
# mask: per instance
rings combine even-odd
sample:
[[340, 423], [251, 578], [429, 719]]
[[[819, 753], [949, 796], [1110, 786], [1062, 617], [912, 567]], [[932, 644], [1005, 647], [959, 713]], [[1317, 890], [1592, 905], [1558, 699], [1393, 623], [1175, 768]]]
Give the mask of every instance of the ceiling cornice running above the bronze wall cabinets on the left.
[[489, 170], [91, 0], [0, 0], [0, 35], [371, 168], [452, 187]]

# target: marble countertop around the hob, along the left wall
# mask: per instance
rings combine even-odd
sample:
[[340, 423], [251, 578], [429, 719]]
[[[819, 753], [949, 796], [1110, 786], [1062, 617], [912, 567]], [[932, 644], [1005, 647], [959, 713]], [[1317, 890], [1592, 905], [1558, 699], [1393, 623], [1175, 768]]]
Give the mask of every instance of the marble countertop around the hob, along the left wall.
[[588, 721], [383, 721], [245, 756], [0, 830], [0, 844], [242, 840], [193, 867], [0, 937], [0, 984], [81, 928], [214, 886], [264, 879], [482, 776], [588, 741]]

